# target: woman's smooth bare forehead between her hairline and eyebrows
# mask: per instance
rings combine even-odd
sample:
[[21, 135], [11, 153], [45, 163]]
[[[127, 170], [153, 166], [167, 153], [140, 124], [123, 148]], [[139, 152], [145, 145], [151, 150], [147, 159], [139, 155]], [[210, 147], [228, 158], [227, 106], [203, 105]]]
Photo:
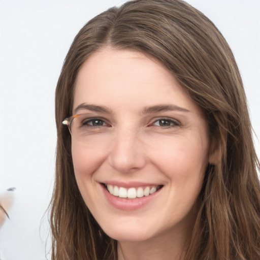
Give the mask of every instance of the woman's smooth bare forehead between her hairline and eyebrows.
[[73, 108], [82, 103], [121, 108], [174, 104], [199, 109], [157, 60], [141, 52], [111, 48], [92, 54], [83, 63]]

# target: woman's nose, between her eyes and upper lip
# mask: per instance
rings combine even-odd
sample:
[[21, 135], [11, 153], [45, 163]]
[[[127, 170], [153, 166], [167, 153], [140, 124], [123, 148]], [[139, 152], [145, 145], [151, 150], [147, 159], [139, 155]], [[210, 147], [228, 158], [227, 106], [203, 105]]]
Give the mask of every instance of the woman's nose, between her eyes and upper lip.
[[109, 165], [120, 173], [131, 173], [145, 166], [146, 158], [141, 140], [133, 132], [120, 131], [111, 142]]

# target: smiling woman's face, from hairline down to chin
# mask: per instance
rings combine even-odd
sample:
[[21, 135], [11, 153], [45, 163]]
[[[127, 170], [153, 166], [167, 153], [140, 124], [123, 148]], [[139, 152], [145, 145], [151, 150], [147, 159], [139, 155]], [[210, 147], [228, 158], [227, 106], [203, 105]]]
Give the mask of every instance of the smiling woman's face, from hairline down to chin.
[[73, 113], [85, 114], [72, 134], [76, 180], [104, 232], [119, 241], [186, 234], [209, 138], [176, 78], [140, 52], [103, 49], [79, 71]]

